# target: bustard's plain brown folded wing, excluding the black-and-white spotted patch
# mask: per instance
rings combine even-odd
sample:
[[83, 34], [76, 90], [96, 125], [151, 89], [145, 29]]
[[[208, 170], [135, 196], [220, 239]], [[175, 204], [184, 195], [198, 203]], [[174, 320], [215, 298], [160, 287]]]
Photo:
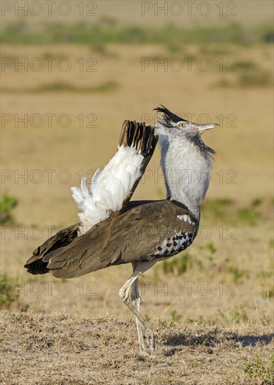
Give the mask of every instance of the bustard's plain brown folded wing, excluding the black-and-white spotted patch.
[[[184, 214], [193, 223], [178, 218]], [[197, 223], [186, 208], [170, 200], [142, 204], [95, 225], [43, 260], [54, 276], [82, 276], [110, 265], [144, 260], [157, 252], [165, 239], [171, 239], [175, 230], [196, 233]]]

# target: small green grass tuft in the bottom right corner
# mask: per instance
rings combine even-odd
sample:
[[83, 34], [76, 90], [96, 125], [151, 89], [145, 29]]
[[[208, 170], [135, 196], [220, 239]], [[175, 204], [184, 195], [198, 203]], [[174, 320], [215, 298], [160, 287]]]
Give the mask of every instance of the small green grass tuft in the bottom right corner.
[[243, 364], [243, 372], [246, 377], [260, 381], [261, 385], [271, 385], [274, 382], [274, 353], [266, 363], [261, 358], [246, 360]]

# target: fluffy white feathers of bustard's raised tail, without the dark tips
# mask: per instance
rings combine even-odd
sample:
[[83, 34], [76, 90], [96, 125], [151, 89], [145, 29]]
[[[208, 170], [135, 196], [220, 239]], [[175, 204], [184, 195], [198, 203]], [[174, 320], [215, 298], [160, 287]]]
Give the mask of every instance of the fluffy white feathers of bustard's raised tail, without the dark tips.
[[135, 148], [121, 146], [108, 165], [94, 174], [89, 189], [91, 194], [85, 178], [82, 178], [80, 188], [71, 188], [73, 199], [82, 211], [78, 214], [82, 222], [80, 234], [108, 218], [111, 211], [122, 209], [124, 200], [140, 176], [143, 159]]

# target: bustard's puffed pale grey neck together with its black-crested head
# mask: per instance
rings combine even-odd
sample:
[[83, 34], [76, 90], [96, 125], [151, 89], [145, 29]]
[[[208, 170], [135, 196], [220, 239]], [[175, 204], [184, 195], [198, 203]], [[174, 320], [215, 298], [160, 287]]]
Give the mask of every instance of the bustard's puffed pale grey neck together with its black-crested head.
[[188, 122], [163, 106], [156, 110], [164, 113], [156, 125], [156, 132], [167, 195], [185, 204], [199, 221], [200, 205], [206, 197], [215, 153], [202, 141], [201, 133], [215, 125]]

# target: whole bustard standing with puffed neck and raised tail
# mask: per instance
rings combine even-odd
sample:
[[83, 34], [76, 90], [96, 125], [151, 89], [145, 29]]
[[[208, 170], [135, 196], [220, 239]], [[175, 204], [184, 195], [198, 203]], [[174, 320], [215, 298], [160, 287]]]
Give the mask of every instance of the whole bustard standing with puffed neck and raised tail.
[[147, 343], [150, 353], [154, 337], [140, 315], [138, 277], [194, 241], [214, 153], [201, 141], [201, 132], [215, 126], [195, 125], [165, 108], [157, 110], [164, 113], [156, 132], [167, 199], [129, 202], [157, 137], [152, 127], [126, 121], [115, 157], [94, 175], [92, 195], [85, 179], [80, 189], [73, 188], [81, 222], [45, 241], [25, 265], [31, 274], [52, 272], [59, 278], [73, 278], [131, 262], [134, 273], [119, 294], [136, 316], [140, 350], [145, 352]]

